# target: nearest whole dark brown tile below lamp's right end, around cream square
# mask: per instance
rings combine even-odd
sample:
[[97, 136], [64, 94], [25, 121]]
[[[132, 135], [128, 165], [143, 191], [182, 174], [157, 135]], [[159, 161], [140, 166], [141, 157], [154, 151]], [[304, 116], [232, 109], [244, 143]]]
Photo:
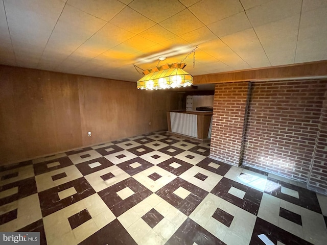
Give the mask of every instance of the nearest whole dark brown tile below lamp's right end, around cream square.
[[[191, 192], [188, 197], [182, 199], [178, 195], [173, 193], [179, 187], [182, 187]], [[169, 184], [156, 191], [155, 193], [159, 195], [160, 198], [166, 200], [168, 203], [170, 203], [179, 211], [188, 216], [194, 211], [194, 209], [208, 194], [207, 191], [178, 177], [171, 181]]]

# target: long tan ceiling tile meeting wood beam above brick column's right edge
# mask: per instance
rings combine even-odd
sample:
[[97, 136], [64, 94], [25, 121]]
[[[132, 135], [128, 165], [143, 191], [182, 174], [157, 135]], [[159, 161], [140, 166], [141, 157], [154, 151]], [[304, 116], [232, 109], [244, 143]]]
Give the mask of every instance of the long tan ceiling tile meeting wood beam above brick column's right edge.
[[222, 41], [253, 68], [271, 65], [253, 29], [225, 36]]

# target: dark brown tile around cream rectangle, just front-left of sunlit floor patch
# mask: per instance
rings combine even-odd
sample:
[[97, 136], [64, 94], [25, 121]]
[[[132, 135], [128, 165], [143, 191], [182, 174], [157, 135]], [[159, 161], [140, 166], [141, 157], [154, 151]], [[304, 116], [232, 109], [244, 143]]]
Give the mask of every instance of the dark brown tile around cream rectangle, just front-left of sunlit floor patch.
[[[245, 192], [243, 199], [240, 199], [238, 197], [235, 197], [235, 195], [228, 193], [228, 190], [232, 186]], [[259, 190], [242, 185], [236, 181], [227, 178], [222, 178], [221, 181], [211, 191], [211, 193], [254, 215], [258, 214], [260, 202], [263, 195], [263, 193]]]

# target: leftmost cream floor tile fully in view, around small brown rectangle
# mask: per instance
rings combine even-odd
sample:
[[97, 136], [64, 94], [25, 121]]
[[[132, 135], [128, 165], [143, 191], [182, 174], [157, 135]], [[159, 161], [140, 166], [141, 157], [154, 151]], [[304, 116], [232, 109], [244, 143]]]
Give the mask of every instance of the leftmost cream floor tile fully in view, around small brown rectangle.
[[[58, 180], [53, 180], [52, 176], [65, 173], [66, 177], [63, 177]], [[75, 165], [68, 167], [60, 168], [48, 173], [35, 176], [37, 191], [41, 192], [43, 190], [50, 189], [52, 187], [67, 183], [72, 180], [76, 180], [80, 177], [83, 177], [81, 172], [77, 169]]]

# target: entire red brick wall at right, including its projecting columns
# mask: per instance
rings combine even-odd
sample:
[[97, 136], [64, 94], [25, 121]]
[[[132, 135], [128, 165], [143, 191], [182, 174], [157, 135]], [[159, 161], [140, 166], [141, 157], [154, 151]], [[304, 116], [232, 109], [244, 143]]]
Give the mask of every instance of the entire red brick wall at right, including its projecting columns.
[[210, 157], [326, 193], [327, 80], [252, 82], [248, 88], [247, 82], [216, 84]]

